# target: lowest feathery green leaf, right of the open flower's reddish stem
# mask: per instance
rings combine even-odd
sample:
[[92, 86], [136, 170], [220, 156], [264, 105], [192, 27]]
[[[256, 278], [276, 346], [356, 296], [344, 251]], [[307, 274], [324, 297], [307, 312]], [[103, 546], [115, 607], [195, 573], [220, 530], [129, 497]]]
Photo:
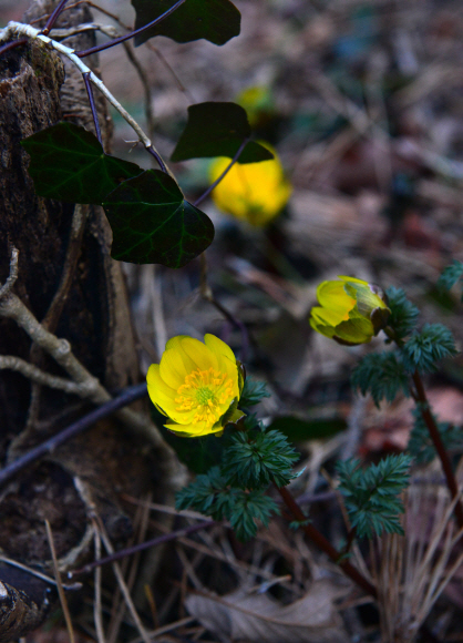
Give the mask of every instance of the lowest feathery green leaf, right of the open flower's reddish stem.
[[409, 481], [411, 457], [388, 456], [378, 465], [360, 468], [356, 459], [338, 462], [339, 490], [344, 497], [346, 508], [359, 538], [371, 538], [373, 533], [401, 533], [399, 514], [403, 503], [399, 493]]

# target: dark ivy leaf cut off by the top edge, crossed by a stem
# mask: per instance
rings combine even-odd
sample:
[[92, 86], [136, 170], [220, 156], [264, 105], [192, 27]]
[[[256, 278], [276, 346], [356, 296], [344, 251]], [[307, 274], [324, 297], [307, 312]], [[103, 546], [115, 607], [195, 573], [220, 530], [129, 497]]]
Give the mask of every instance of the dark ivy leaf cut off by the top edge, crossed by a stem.
[[[176, 0], [132, 0], [136, 11], [135, 29], [140, 29], [171, 9]], [[176, 42], [204, 38], [225, 44], [239, 34], [241, 14], [229, 0], [186, 0], [171, 16], [135, 38], [135, 47], [154, 35], [166, 35]]]

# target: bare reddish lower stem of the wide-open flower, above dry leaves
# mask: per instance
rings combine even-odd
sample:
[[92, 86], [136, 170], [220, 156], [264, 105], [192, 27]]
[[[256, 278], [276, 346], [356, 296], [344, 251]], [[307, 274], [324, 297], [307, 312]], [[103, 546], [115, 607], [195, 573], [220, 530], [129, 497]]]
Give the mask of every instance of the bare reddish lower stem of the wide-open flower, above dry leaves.
[[306, 532], [306, 535], [315, 542], [329, 558], [349, 576], [354, 583], [357, 583], [362, 590], [369, 593], [373, 599], [378, 598], [378, 592], [374, 585], [366, 579], [357, 568], [354, 568], [349, 561], [340, 560], [341, 553], [332, 547], [332, 544], [325, 538], [322, 533], [318, 531], [310, 522], [307, 522], [307, 517], [302, 512], [299, 504], [296, 502], [292, 493], [286, 487], [277, 487], [278, 493], [281, 496], [285, 504], [292, 513], [292, 516], [301, 523], [301, 529]]

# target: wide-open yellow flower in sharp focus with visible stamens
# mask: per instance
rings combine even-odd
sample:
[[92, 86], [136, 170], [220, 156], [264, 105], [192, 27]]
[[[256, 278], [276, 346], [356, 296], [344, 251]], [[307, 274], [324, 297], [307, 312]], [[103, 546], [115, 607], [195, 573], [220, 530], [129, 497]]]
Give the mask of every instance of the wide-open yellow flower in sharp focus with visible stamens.
[[186, 335], [166, 344], [161, 364], [146, 375], [148, 394], [156, 408], [171, 420], [164, 425], [184, 437], [218, 433], [237, 421], [243, 390], [240, 365], [229, 346], [214, 335], [204, 344]]

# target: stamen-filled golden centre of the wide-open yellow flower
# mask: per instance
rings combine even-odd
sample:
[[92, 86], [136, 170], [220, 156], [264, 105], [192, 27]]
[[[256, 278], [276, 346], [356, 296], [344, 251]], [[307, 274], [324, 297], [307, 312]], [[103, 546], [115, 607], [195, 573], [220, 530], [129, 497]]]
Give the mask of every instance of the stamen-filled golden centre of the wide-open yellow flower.
[[196, 410], [193, 423], [207, 421], [210, 426], [220, 418], [233, 400], [233, 381], [214, 368], [194, 370], [185, 377], [185, 382], [177, 389], [175, 398], [177, 411]]

